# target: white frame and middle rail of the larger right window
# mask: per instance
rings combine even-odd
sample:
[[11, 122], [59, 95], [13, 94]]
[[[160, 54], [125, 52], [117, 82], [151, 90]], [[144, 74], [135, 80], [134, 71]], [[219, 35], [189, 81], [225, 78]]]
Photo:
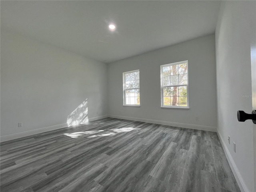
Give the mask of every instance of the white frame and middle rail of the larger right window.
[[[164, 87], [170, 87], [170, 86], [163, 86], [163, 67], [164, 66], [172, 66], [172, 65], [178, 65], [178, 64], [183, 64], [184, 62], [186, 62], [187, 64], [187, 84], [184, 85], [176, 85], [176, 86], [187, 86], [187, 106], [164, 106]], [[172, 109], [189, 109], [189, 95], [188, 95], [188, 60], [185, 61], [181, 61], [181, 62], [175, 62], [175, 63], [169, 63], [169, 64], [164, 64], [160, 66], [160, 70], [161, 70], [161, 108], [172, 108]], [[175, 86], [175, 85], [172, 85]]]

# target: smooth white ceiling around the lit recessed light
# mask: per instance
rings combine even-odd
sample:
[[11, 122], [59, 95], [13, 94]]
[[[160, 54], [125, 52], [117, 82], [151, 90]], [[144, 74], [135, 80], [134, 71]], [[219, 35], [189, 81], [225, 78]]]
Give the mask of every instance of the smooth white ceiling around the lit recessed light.
[[110, 63], [213, 34], [220, 1], [1, 0], [0, 6], [1, 28]]

